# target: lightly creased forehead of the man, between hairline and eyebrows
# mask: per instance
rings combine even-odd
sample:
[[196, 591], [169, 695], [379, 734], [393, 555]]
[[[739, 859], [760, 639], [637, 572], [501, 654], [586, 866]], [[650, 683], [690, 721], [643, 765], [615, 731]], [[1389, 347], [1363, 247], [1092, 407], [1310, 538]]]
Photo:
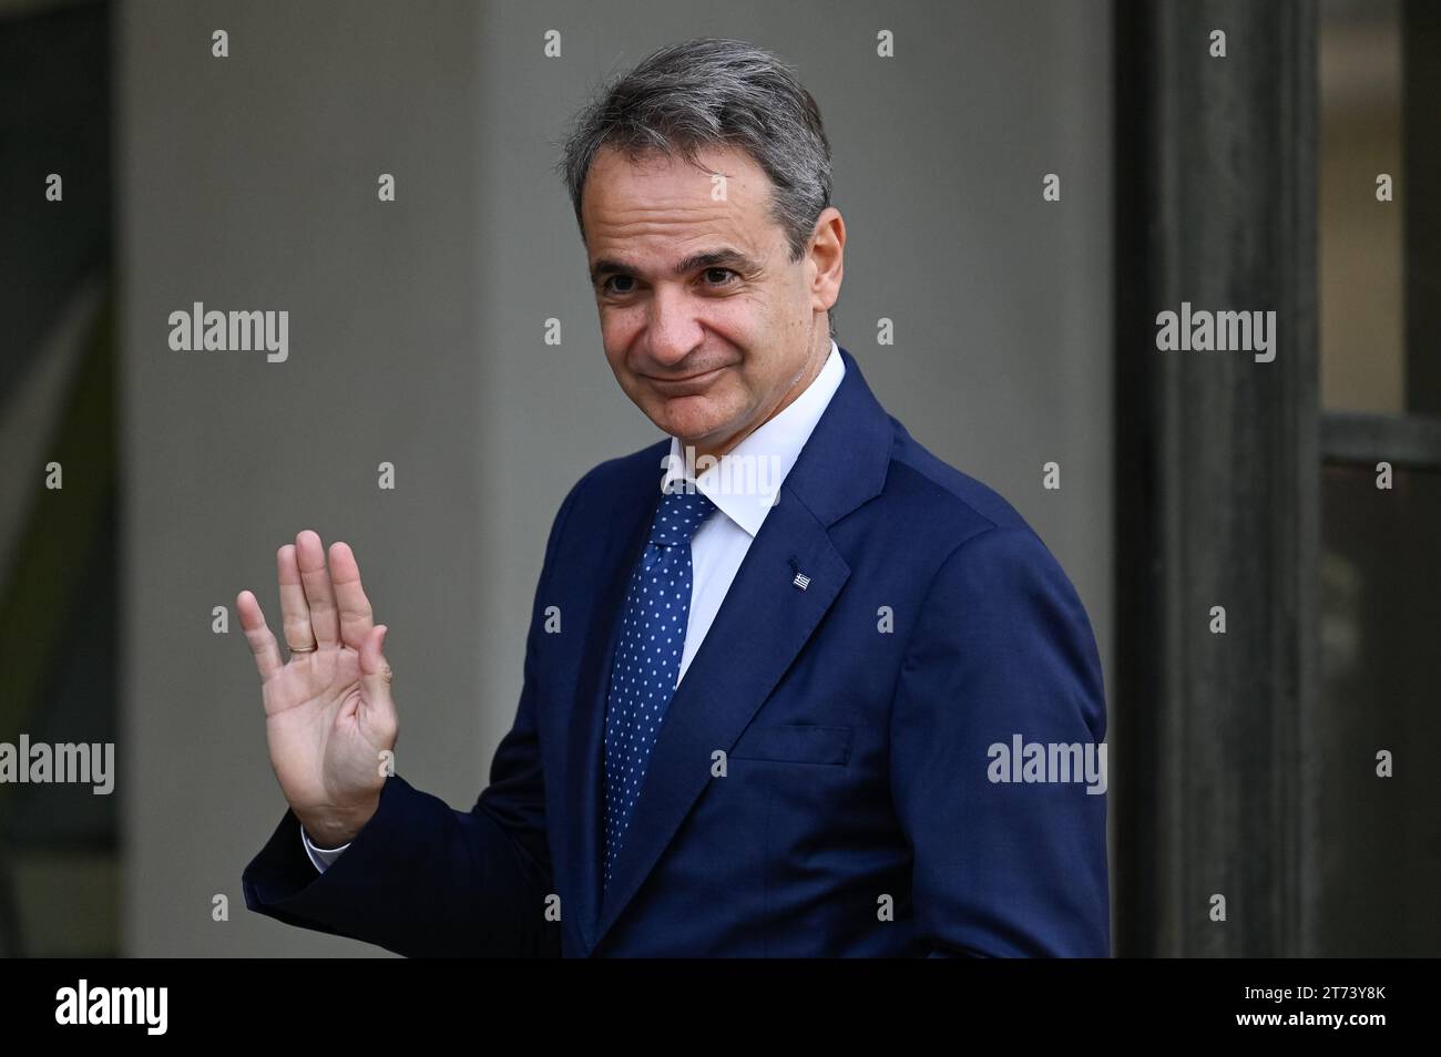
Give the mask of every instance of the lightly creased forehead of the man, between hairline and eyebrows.
[[581, 215], [594, 258], [690, 248], [708, 236], [755, 248], [778, 232], [769, 204], [771, 181], [745, 151], [702, 148], [690, 163], [602, 148], [586, 174]]

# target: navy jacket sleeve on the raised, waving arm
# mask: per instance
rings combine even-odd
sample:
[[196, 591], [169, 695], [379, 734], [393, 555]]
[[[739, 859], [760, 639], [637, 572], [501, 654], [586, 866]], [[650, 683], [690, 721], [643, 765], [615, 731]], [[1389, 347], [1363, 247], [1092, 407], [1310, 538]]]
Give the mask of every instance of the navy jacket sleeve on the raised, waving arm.
[[490, 785], [457, 811], [399, 775], [346, 853], [317, 873], [285, 811], [242, 874], [245, 904], [287, 925], [349, 936], [406, 956], [559, 956], [545, 786], [536, 724], [537, 635], [556, 540], [585, 478], [566, 495], [546, 543], [526, 637], [525, 684]]

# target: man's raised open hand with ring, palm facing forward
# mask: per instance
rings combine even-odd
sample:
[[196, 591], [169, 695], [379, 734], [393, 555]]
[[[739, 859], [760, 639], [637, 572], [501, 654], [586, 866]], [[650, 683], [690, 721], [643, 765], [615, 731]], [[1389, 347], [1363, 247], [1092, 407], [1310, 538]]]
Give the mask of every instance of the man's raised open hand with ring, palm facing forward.
[[255, 595], [242, 590], [235, 606], [261, 675], [275, 778], [311, 840], [334, 847], [375, 814], [389, 773], [399, 721], [380, 652], [386, 626], [372, 622], [347, 544], [331, 544], [327, 570], [320, 536], [305, 530], [275, 567], [288, 661]]

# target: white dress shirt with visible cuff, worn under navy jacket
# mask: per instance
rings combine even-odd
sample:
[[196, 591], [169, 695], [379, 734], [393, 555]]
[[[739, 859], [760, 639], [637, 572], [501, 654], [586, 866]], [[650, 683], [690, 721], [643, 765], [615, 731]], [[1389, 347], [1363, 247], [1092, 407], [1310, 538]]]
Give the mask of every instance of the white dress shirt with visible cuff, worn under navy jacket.
[[[840, 359], [836, 340], [831, 338], [826, 364], [804, 392], [780, 415], [762, 423], [722, 455], [716, 465], [700, 467], [699, 474], [692, 472], [696, 469], [695, 454], [690, 452], [687, 456], [682, 442], [674, 436], [670, 438], [670, 464], [666, 467], [661, 487], [670, 488], [677, 478], [695, 481], [695, 488], [716, 504], [716, 513], [708, 517], [690, 539], [690, 615], [686, 621], [686, 649], [680, 658], [676, 685], [686, 677], [692, 658], [710, 631], [710, 624], [731, 589], [731, 580], [735, 579], [751, 541], [761, 531], [761, 523], [774, 505], [775, 491], [795, 465], [801, 448], [830, 405], [830, 397], [836, 395], [844, 373], [846, 364]], [[342, 844], [339, 848], [317, 848], [304, 827], [300, 837], [310, 861], [320, 871], [350, 847]]]

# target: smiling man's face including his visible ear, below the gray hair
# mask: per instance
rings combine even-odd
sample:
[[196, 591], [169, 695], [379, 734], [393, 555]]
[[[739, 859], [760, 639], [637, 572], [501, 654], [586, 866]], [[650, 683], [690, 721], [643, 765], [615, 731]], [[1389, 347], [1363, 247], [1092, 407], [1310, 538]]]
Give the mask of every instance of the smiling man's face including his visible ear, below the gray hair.
[[696, 160], [604, 148], [581, 215], [615, 380], [660, 429], [718, 454], [824, 363], [844, 229], [827, 209], [816, 249], [791, 261], [765, 171], [732, 148]]

